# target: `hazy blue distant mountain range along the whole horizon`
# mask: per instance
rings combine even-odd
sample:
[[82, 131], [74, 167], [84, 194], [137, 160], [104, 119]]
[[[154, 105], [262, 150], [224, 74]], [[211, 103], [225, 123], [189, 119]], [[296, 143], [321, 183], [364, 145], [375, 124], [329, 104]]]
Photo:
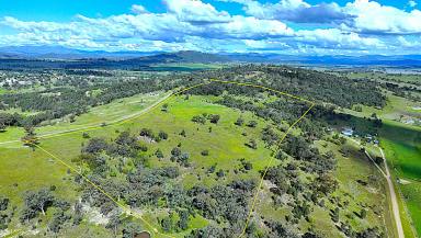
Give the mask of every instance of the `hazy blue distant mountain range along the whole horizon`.
[[421, 55], [399, 56], [306, 56], [261, 53], [201, 53], [201, 52], [89, 52], [61, 46], [0, 47], [0, 60], [71, 60], [101, 61], [101, 65], [155, 65], [168, 63], [265, 63], [315, 66], [388, 66], [421, 67]]

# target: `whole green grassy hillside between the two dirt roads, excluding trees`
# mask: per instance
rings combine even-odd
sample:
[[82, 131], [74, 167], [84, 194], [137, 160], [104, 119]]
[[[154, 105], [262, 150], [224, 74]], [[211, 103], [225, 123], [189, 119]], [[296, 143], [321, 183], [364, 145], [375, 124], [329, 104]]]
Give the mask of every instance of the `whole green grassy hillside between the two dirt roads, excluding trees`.
[[[82, 148], [86, 148], [90, 138], [105, 138], [105, 141], [112, 143], [122, 134], [122, 132], [129, 132], [133, 135], [138, 135], [139, 131], [143, 128], [150, 128], [155, 134], [160, 131], [166, 132], [168, 134], [168, 139], [151, 141], [148, 138], [141, 137], [139, 138], [139, 143], [147, 147], [146, 151], [139, 152], [134, 158], [122, 159], [122, 161], [124, 161], [123, 163], [111, 158], [105, 160], [107, 165], [106, 178], [109, 181], [124, 179], [130, 171], [136, 171], [136, 165], [138, 165], [140, 160], [141, 165], [147, 168], [164, 168], [168, 166], [180, 168], [181, 175], [177, 178], [175, 181], [185, 190], [190, 190], [197, 185], [214, 188], [216, 185], [229, 184], [238, 179], [259, 181], [261, 171], [273, 158], [273, 147], [268, 146], [261, 139], [262, 131], [268, 125], [275, 126], [275, 124], [270, 121], [264, 121], [251, 112], [219, 105], [215, 103], [217, 100], [217, 97], [205, 95], [190, 95], [189, 99], [186, 97], [177, 97], [171, 101], [166, 102], [166, 104], [168, 104], [166, 112], [162, 111], [161, 107], [157, 107], [129, 123], [122, 125], [111, 124], [110, 126], [104, 126], [100, 129], [89, 131], [86, 135], [83, 135], [82, 132], [78, 132], [62, 136], [43, 138], [39, 141], [39, 146], [71, 165], [71, 167], [78, 171], [82, 171], [82, 173], [89, 175], [92, 174], [91, 168], [87, 167], [87, 165], [78, 163], [77, 161], [80, 151]], [[257, 101], [257, 103], [261, 106], [263, 105], [259, 101]], [[72, 128], [73, 125], [76, 127], [77, 125], [86, 125], [87, 123], [102, 122], [102, 120], [105, 118], [100, 115], [105, 112], [111, 112], [112, 115], [115, 115], [117, 118], [118, 113], [113, 114], [113, 112], [124, 111], [124, 113], [130, 113], [132, 110], [136, 111], [136, 109], [132, 109], [132, 104], [135, 104], [136, 106], [139, 105], [137, 100], [129, 99], [129, 101], [124, 100], [123, 103], [116, 102], [112, 104], [112, 106], [100, 106], [92, 110], [89, 114], [76, 117], [76, 122], [73, 123], [66, 121], [60, 122], [56, 125], [55, 129], [61, 131], [62, 128]], [[194, 116], [203, 114], [218, 114], [220, 120], [217, 124], [210, 123], [208, 120], [204, 124], [192, 122]], [[244, 121], [243, 125], [235, 125], [239, 117]], [[113, 117], [106, 120], [113, 120]], [[247, 126], [247, 123], [250, 121], [255, 121], [257, 126]], [[37, 129], [38, 134], [47, 132], [52, 132], [50, 126], [39, 127]], [[276, 133], [280, 135], [283, 134], [280, 131], [276, 131]], [[294, 134], [299, 133], [299, 131], [294, 131]], [[250, 143], [250, 139], [255, 139], [255, 148], [247, 146], [247, 144]], [[180, 166], [177, 161], [171, 160], [171, 151], [175, 147], [179, 147], [182, 151], [189, 154], [189, 167]], [[383, 223], [388, 223], [387, 216], [384, 215], [387, 214], [387, 212], [384, 211], [385, 204], [378, 204], [378, 201], [385, 201], [385, 197], [380, 195], [383, 194], [380, 192], [383, 186], [379, 183], [372, 183], [369, 182], [371, 180], [367, 179], [369, 178], [369, 174], [373, 173], [373, 169], [365, 165], [366, 161], [361, 161], [361, 156], [357, 154], [341, 156], [339, 150], [342, 146], [321, 140], [317, 144], [317, 147], [320, 148], [323, 154], [328, 150], [334, 151], [334, 157], [338, 158], [335, 177], [339, 180], [340, 190], [334, 193], [333, 199], [323, 199], [326, 205], [311, 205], [312, 208], [309, 218], [297, 219], [296, 225], [293, 226], [294, 229], [301, 233], [315, 230], [326, 236], [341, 236], [342, 233], [331, 220], [331, 213], [332, 209], [337, 207], [337, 204], [342, 204], [343, 212], [339, 215], [341, 223], [349, 224], [352, 229], [363, 230], [373, 226], [382, 227]], [[157, 158], [156, 151], [158, 149], [162, 151], [163, 158]], [[4, 177], [0, 180], [4, 183], [2, 184], [2, 188], [14, 186], [14, 181], [19, 181], [19, 189], [7, 189], [8, 193], [5, 193], [11, 197], [11, 203], [18, 207], [22, 206], [23, 195], [26, 190], [37, 190], [55, 185], [57, 188], [57, 190], [55, 190], [57, 192], [54, 192], [55, 195], [62, 197], [66, 201], [70, 201], [71, 203], [75, 203], [77, 199], [82, 196], [87, 191], [84, 185], [81, 186], [80, 183], [75, 182], [77, 177], [75, 177], [73, 172], [68, 171], [67, 168], [52, 159], [50, 156], [41, 151], [41, 149], [32, 151], [30, 148], [22, 147], [19, 143], [15, 143], [2, 146], [2, 150], [4, 152], [2, 152], [0, 157], [0, 168], [3, 168], [4, 171], [8, 171], [9, 168], [20, 168], [20, 170], [15, 170], [7, 178]], [[204, 154], [205, 150], [207, 150], [206, 155]], [[122, 165], [121, 168], [118, 167], [118, 163]], [[246, 163], [250, 163], [252, 167], [244, 170], [243, 167]], [[283, 161], [275, 159], [272, 166], [275, 167], [277, 165], [282, 165], [283, 167], [296, 165], [297, 167], [300, 167], [301, 161], [289, 157]], [[349, 169], [350, 167], [359, 167], [360, 173], [355, 174]], [[213, 172], [209, 172], [210, 170], [213, 170]], [[296, 171], [299, 173], [299, 181], [300, 183], [303, 182], [304, 188], [307, 188], [310, 181], [315, 179], [312, 173], [298, 169]], [[3, 174], [7, 173], [1, 174], [3, 177]], [[349, 180], [350, 177], [352, 177], [352, 180]], [[357, 180], [367, 181], [369, 185], [361, 185], [356, 182]], [[106, 184], [100, 185], [103, 186], [106, 192], [112, 192]], [[294, 212], [294, 209], [296, 209], [294, 207], [296, 205], [288, 203], [283, 205], [274, 204], [274, 199], [271, 197], [273, 196], [271, 195], [272, 193], [269, 191], [268, 186], [264, 188], [265, 190], [262, 193], [264, 203], [258, 204], [257, 213], [265, 219], [284, 220], [288, 224], [289, 222], [286, 220], [286, 217], [294, 217], [294, 213], [296, 213]], [[305, 191], [307, 191], [307, 189], [305, 189]], [[355, 196], [355, 191], [361, 192]], [[286, 195], [286, 197], [293, 196]], [[299, 200], [305, 200], [304, 195], [298, 195], [298, 197]], [[248, 201], [250, 202], [251, 197], [249, 197]], [[135, 208], [135, 211], [136, 213], [143, 214], [143, 217], [153, 227], [157, 227], [161, 233], [168, 233], [161, 225], [161, 220], [169, 216], [168, 208], [163, 208], [163, 205], [164, 204], [161, 204], [158, 207], [147, 205]], [[278, 207], [275, 209], [275, 213], [273, 212], [273, 207]], [[367, 215], [359, 218], [359, 215], [355, 214], [360, 214], [362, 207], [367, 209]], [[244, 207], [244, 209], [246, 208], [247, 207]], [[94, 209], [95, 208], [91, 207], [89, 213], [94, 213]], [[20, 211], [18, 209], [18, 214], [19, 213]], [[45, 229], [45, 227], [48, 226], [46, 220], [50, 219], [54, 214], [55, 209], [50, 209], [46, 213], [46, 217], [41, 215], [41, 218], [44, 222], [36, 225], [36, 230]], [[136, 220], [136, 223], [140, 224], [145, 229], [151, 228], [139, 219], [129, 216], [123, 217], [125, 217], [125, 219]], [[257, 220], [258, 217], [259, 216], [255, 216], [253, 220]], [[173, 219], [178, 220], [178, 215], [175, 215]], [[110, 231], [103, 228], [104, 224], [93, 225], [95, 220], [98, 222], [98, 218], [86, 215], [81, 225], [75, 228], [66, 225], [61, 228], [59, 236], [78, 237], [83, 233], [83, 229], [87, 229], [87, 233], [89, 234], [102, 234], [101, 236], [104, 237], [111, 236]], [[189, 217], [189, 224], [184, 230], [172, 230], [168, 234], [174, 237], [184, 237], [190, 234], [191, 230], [204, 228], [213, 223], [213, 219], [196, 214]], [[11, 227], [14, 226], [18, 228], [16, 216], [11, 224]], [[157, 237], [160, 236], [158, 235]]]

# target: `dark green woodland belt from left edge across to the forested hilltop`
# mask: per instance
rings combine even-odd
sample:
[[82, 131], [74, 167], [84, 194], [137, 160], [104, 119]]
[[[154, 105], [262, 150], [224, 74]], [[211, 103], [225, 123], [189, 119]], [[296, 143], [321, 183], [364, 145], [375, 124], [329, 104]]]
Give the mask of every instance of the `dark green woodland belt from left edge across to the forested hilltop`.
[[[373, 81], [346, 79], [334, 75], [293, 67], [244, 65], [219, 70], [205, 70], [190, 73], [173, 72], [150, 77], [145, 73], [140, 77], [116, 77], [117, 71], [77, 71], [53, 70], [64, 81], [34, 81], [38, 71], [20, 75], [27, 78], [31, 84], [42, 83], [43, 91], [20, 91], [18, 93], [0, 94], [0, 109], [20, 109], [24, 112], [37, 112], [34, 115], [23, 116], [18, 113], [0, 117], [5, 120], [4, 125], [37, 125], [44, 121], [58, 118], [70, 114], [81, 114], [91, 106], [110, 103], [113, 100], [147, 93], [157, 90], [170, 90], [201, 83], [207, 79], [231, 80], [251, 82], [265, 86], [294, 95], [316, 101], [318, 104], [331, 104], [351, 109], [357, 104], [384, 106], [386, 100], [382, 95], [378, 84]], [[49, 73], [48, 71], [46, 73]], [[98, 78], [98, 83], [90, 79]], [[5, 78], [15, 76], [4, 76]], [[118, 79], [118, 80], [115, 80]], [[93, 81], [92, 81], [93, 80]], [[7, 88], [31, 88], [27, 86], [8, 83]], [[246, 90], [243, 87], [241, 90]], [[197, 89], [198, 90], [198, 89]], [[213, 83], [201, 87], [206, 92], [221, 94], [224, 91], [235, 91], [228, 84]], [[94, 97], [90, 92], [98, 91]], [[243, 93], [243, 92], [242, 92]], [[247, 92], [246, 92], [247, 93]], [[250, 93], [254, 93], [250, 91]]]

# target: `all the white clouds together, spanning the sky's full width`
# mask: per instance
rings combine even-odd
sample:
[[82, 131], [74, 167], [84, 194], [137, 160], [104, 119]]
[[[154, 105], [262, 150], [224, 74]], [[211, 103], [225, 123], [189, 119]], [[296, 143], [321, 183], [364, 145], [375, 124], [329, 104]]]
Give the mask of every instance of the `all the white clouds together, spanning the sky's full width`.
[[[248, 15], [231, 15], [198, 0], [164, 0], [167, 11], [153, 13], [143, 5], [132, 13], [107, 18], [77, 15], [69, 22], [0, 19], [16, 33], [2, 35], [0, 45], [61, 45], [106, 50], [206, 50], [344, 53], [386, 52], [414, 47], [417, 41], [384, 34], [417, 34], [420, 12], [406, 12], [368, 0], [344, 7], [311, 5], [304, 0], [262, 4], [254, 0], [228, 0], [244, 4]], [[255, 8], [252, 8], [255, 5]], [[322, 12], [331, 12], [322, 14]], [[391, 15], [391, 16], [390, 16]], [[323, 19], [325, 18], [325, 19]], [[329, 29], [294, 30], [285, 22], [330, 23]], [[284, 22], [285, 21], [285, 22]], [[326, 25], [325, 25], [326, 26]]]

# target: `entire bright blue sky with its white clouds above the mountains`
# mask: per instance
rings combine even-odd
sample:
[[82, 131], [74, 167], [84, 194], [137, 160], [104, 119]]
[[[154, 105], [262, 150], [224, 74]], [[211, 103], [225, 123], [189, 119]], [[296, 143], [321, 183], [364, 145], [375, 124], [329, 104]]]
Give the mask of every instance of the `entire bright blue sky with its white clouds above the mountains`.
[[0, 47], [417, 54], [418, 0], [0, 0]]

